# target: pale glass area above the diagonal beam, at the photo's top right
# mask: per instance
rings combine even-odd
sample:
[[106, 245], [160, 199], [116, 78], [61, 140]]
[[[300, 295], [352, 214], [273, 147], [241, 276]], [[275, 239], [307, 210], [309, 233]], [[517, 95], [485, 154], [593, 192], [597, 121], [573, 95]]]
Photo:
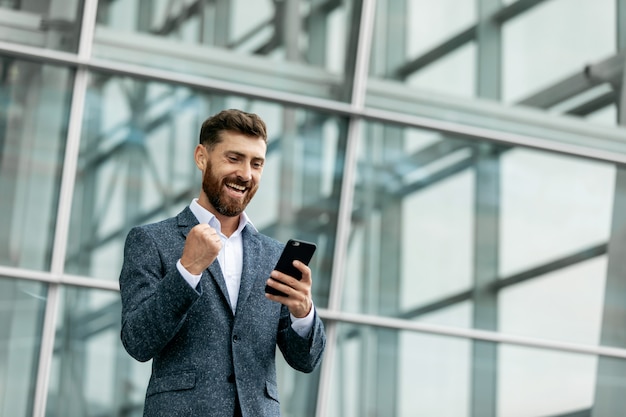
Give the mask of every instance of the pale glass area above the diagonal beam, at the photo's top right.
[[615, 4], [550, 0], [507, 22], [502, 31], [503, 100], [521, 101], [612, 56], [617, 49]]

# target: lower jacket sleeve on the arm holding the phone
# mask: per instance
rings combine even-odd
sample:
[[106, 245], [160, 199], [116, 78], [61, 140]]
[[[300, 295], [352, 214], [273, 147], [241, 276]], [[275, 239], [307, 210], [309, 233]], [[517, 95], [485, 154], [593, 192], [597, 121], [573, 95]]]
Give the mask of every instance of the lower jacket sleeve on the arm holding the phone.
[[293, 330], [289, 309], [282, 306], [277, 343], [285, 361], [292, 368], [306, 373], [313, 372], [321, 362], [326, 347], [324, 324], [317, 311], [309, 337], [304, 338]]

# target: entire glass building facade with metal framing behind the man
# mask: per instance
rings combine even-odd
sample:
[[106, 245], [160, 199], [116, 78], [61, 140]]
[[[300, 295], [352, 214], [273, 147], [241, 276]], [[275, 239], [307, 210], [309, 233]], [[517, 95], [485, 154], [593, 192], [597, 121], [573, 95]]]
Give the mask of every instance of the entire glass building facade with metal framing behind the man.
[[248, 214], [315, 241], [285, 417], [626, 410], [626, 0], [0, 0], [0, 416], [140, 416], [128, 230], [268, 124]]

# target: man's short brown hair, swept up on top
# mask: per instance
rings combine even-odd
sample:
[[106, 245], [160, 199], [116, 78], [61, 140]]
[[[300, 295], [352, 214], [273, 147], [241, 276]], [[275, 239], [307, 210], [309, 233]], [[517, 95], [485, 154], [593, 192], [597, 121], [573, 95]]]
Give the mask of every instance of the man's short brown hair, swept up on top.
[[237, 109], [222, 110], [206, 119], [200, 129], [200, 144], [212, 148], [222, 141], [223, 131], [233, 131], [246, 136], [256, 136], [267, 142], [265, 122], [254, 113]]

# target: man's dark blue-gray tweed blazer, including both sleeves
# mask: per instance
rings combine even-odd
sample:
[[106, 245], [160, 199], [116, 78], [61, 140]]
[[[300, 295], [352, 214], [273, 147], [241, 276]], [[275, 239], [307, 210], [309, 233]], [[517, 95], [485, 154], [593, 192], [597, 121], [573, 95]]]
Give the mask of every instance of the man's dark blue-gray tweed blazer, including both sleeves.
[[278, 417], [275, 355], [312, 372], [326, 336], [315, 314], [308, 338], [292, 328], [289, 311], [265, 298], [265, 281], [283, 244], [246, 226], [243, 272], [233, 315], [217, 260], [196, 289], [176, 268], [189, 230], [189, 207], [178, 216], [133, 228], [120, 274], [121, 338], [139, 361], [152, 359], [144, 416]]

